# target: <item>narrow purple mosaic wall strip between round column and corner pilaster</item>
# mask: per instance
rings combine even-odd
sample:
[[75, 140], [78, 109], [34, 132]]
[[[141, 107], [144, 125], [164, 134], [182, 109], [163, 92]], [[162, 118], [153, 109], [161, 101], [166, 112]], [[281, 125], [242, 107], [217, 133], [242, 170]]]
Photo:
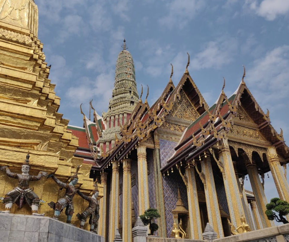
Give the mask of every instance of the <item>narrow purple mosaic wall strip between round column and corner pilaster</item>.
[[148, 163], [148, 195], [150, 201], [150, 208], [156, 208], [156, 182], [154, 173], [153, 150], [147, 149], [147, 163]]

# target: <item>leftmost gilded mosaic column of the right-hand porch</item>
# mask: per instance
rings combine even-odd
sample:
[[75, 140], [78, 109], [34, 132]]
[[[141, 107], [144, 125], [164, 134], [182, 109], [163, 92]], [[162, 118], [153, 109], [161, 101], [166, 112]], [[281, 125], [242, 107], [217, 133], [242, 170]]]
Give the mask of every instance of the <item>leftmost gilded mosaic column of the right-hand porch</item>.
[[186, 166], [185, 173], [188, 179], [186, 185], [188, 193], [188, 210], [190, 217], [191, 239], [202, 240], [202, 225], [194, 167], [190, 165]]

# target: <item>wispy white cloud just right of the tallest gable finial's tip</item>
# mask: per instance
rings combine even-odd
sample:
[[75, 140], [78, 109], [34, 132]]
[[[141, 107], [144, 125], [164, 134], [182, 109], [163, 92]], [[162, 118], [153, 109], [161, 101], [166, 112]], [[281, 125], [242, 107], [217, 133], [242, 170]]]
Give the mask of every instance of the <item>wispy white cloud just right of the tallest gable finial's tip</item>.
[[237, 43], [234, 38], [222, 38], [207, 42], [203, 50], [191, 58], [191, 68], [197, 70], [205, 68], [220, 69], [233, 60], [238, 49]]

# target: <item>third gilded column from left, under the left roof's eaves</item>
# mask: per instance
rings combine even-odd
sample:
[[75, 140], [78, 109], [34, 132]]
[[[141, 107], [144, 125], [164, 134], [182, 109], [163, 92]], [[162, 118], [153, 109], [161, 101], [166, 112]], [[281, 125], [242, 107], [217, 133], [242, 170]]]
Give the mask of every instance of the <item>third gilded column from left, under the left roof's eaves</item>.
[[124, 159], [123, 163], [123, 195], [122, 195], [122, 240], [132, 241], [131, 222], [131, 173], [130, 159]]

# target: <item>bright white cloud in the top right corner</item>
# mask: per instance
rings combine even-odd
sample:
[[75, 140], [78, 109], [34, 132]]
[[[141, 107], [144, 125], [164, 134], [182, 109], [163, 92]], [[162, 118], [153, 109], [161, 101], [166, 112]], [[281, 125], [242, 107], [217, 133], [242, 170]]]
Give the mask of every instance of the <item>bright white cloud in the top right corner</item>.
[[245, 6], [248, 6], [258, 16], [264, 17], [269, 21], [289, 13], [288, 0], [263, 0], [261, 3], [257, 0], [246, 0]]

